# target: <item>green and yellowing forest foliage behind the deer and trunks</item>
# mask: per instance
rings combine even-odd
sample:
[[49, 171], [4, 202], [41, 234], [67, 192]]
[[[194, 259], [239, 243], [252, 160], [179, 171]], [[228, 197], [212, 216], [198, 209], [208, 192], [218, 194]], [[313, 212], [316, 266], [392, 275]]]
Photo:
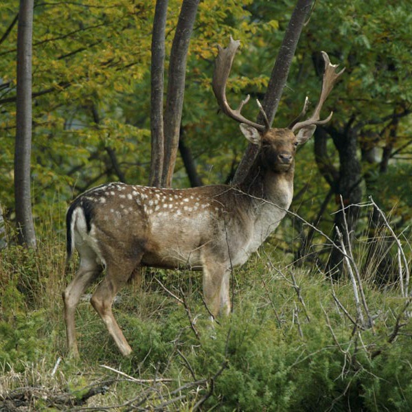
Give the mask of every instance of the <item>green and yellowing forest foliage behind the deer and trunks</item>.
[[[166, 66], [179, 3], [169, 5]], [[18, 2], [0, 7], [0, 203], [12, 219]], [[261, 97], [292, 10], [287, 1], [200, 3], [189, 49], [182, 132], [203, 183], [226, 181], [245, 147], [236, 125], [216, 113], [210, 87], [216, 45], [225, 45], [229, 34], [242, 43], [233, 69], [236, 75], [229, 82], [233, 100], [246, 93]], [[153, 13], [152, 1], [35, 3], [32, 197], [36, 221], [49, 214], [50, 204], [60, 214], [67, 201], [91, 185], [121, 178], [147, 183]], [[396, 207], [402, 225], [411, 218], [405, 179], [411, 174], [410, 19], [407, 2], [385, 7], [378, 1], [317, 3], [301, 35], [275, 119], [275, 126], [284, 127], [299, 113], [305, 95], [316, 101], [315, 56], [322, 49], [328, 52], [332, 62], [346, 67], [346, 73], [325, 111], [333, 109], [336, 130], [348, 125], [356, 130], [356, 156], [362, 165], [361, 179], [367, 183], [363, 196], [373, 195], [387, 210]], [[246, 110], [249, 117], [257, 113], [253, 105]], [[330, 165], [339, 168], [338, 153], [331, 145], [330, 141]], [[328, 185], [313, 168], [312, 146], [306, 146], [298, 155], [295, 179], [295, 192], [304, 188], [306, 195], [295, 207], [311, 220]], [[382, 162], [388, 160], [384, 168]], [[174, 185], [187, 184], [178, 159]], [[334, 208], [331, 203], [330, 209]]]

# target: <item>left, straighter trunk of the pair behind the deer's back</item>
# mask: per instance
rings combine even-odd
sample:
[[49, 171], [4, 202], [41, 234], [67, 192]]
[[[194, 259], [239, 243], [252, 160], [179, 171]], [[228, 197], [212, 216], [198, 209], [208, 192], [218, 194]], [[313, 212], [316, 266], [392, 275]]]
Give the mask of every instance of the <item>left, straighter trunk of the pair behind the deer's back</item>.
[[150, 94], [150, 131], [152, 134], [152, 159], [150, 161], [151, 186], [161, 186], [164, 157], [163, 91], [165, 65], [165, 27], [168, 0], [157, 0], [152, 34], [152, 67]]

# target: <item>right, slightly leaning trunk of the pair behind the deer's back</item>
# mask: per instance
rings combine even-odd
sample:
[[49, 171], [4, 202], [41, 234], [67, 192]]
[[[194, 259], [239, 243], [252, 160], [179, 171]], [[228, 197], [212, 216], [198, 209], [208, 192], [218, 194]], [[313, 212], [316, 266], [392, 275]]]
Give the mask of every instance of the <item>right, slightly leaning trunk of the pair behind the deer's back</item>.
[[183, 0], [170, 52], [168, 95], [164, 116], [165, 152], [161, 182], [163, 187], [172, 185], [174, 165], [179, 147], [187, 50], [189, 49], [198, 3], [199, 0]]

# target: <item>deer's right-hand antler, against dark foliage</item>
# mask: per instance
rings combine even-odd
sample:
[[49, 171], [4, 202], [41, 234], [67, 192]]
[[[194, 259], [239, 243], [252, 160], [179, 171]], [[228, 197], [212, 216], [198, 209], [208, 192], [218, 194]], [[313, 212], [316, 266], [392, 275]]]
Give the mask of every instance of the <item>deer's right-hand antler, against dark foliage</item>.
[[321, 91], [321, 97], [319, 98], [319, 102], [314, 109], [314, 112], [309, 119], [306, 119], [304, 122], [299, 122], [293, 126], [292, 131], [296, 132], [297, 130], [306, 127], [306, 126], [312, 126], [316, 124], [325, 124], [330, 121], [332, 118], [333, 112], [330, 113], [330, 115], [324, 119], [324, 120], [319, 120], [321, 117], [321, 110], [323, 103], [325, 100], [328, 98], [328, 95], [330, 91], [332, 91], [334, 84], [336, 83], [336, 80], [338, 80], [339, 76], [345, 71], [345, 68], [343, 68], [339, 73], [336, 73], [336, 68], [339, 65], [332, 65], [330, 63], [330, 58], [328, 54], [325, 52], [322, 52], [323, 60], [325, 61], [325, 71], [323, 72], [323, 82], [322, 82], [322, 91]]

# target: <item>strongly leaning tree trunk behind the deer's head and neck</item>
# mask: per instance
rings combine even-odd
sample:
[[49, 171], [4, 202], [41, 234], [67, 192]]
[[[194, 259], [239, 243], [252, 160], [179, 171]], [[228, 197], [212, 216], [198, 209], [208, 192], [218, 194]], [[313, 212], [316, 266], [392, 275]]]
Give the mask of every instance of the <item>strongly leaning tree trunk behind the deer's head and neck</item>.
[[[304, 27], [306, 17], [310, 12], [310, 8], [312, 7], [312, 3], [313, 0], [297, 1], [297, 5], [290, 17], [288, 28], [286, 29], [282, 45], [279, 49], [279, 54], [277, 54], [268, 89], [266, 90], [262, 103], [270, 124], [273, 123], [273, 119], [275, 118], [277, 106], [279, 106], [279, 101], [282, 97], [282, 92], [288, 78], [290, 64], [293, 56], [295, 56], [297, 42], [299, 41], [301, 31]], [[262, 114], [259, 113], [257, 122], [263, 124], [262, 120]], [[233, 178], [233, 183], [238, 184], [244, 180], [257, 154], [258, 146], [249, 144], [238, 165], [238, 169]]]

